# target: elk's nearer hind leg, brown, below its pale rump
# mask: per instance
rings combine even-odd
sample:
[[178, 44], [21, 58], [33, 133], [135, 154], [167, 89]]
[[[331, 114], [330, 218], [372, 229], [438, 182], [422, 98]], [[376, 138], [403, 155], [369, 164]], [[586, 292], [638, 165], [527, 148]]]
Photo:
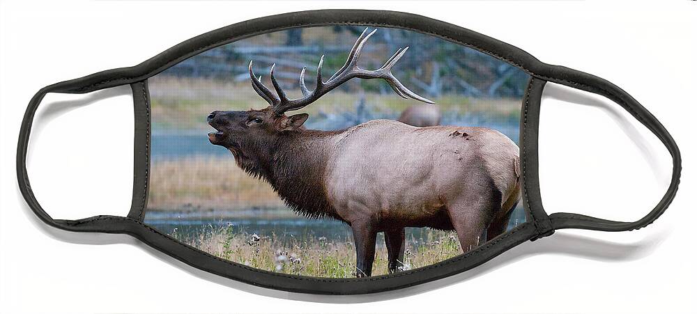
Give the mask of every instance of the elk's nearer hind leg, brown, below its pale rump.
[[482, 233], [493, 220], [493, 212], [500, 208], [500, 198], [500, 194], [491, 192], [471, 193], [448, 206], [448, 215], [462, 251], [467, 252], [484, 243]]

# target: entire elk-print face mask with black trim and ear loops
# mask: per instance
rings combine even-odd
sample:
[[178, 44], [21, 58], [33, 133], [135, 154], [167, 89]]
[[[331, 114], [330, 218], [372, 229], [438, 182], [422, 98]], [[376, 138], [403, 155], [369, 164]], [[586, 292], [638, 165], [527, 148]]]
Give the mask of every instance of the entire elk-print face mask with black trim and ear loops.
[[[537, 130], [547, 81], [613, 100], [671, 152], [671, 185], [645, 217], [546, 214]], [[50, 217], [26, 172], [39, 103], [124, 84], [135, 102], [128, 216]], [[321, 10], [234, 24], [41, 89], [17, 173], [31, 210], [56, 228], [132, 235], [252, 285], [360, 294], [458, 274], [556, 229], [643, 228], [675, 196], [680, 152], [599, 77], [427, 17]]]

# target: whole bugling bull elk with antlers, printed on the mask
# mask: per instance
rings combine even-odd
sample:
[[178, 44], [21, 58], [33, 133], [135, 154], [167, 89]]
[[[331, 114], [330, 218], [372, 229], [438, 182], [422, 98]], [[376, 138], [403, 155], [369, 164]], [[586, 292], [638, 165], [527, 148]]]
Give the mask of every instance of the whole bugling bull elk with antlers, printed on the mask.
[[252, 88], [270, 104], [261, 110], [213, 111], [208, 124], [217, 132], [210, 143], [232, 152], [249, 175], [263, 178], [289, 207], [306, 217], [331, 217], [351, 226], [356, 276], [370, 276], [376, 235], [385, 233], [388, 270], [404, 258], [404, 228], [455, 230], [464, 251], [507, 228], [519, 201], [519, 149], [513, 141], [484, 127], [413, 127], [394, 120], [372, 120], [336, 131], [305, 129], [307, 113], [286, 116], [319, 99], [349, 79], [384, 79], [395, 92], [433, 104], [401, 84], [392, 67], [408, 47], [377, 70], [356, 64], [365, 42], [359, 36], [346, 63], [332, 77], [317, 66], [314, 91], [289, 99], [270, 70], [276, 93], [255, 77]]

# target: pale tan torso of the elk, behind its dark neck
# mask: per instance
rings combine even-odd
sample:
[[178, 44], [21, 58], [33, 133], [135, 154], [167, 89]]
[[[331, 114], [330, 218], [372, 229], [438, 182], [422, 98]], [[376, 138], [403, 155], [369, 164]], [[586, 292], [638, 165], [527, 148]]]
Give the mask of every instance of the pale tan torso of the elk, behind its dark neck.
[[431, 226], [434, 214], [447, 214], [447, 207], [454, 207], [468, 217], [478, 237], [491, 221], [467, 212], [472, 201], [468, 194], [486, 187], [500, 191], [503, 201], [519, 197], [518, 146], [491, 129], [420, 128], [372, 120], [331, 136], [326, 145], [332, 153], [324, 184], [329, 201], [346, 221]]

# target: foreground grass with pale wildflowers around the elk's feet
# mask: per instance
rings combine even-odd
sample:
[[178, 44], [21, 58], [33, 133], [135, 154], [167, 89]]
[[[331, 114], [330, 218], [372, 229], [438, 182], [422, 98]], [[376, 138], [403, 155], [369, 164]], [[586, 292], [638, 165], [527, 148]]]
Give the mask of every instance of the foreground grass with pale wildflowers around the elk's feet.
[[[259, 237], [233, 227], [210, 228], [194, 237], [183, 237], [175, 230], [171, 236], [214, 256], [270, 272], [332, 278], [350, 278], [356, 272], [351, 239], [332, 241], [312, 235]], [[373, 276], [388, 273], [387, 250], [381, 243], [383, 238], [378, 237]], [[461, 253], [455, 233], [423, 228], [419, 239], [407, 239], [401, 267], [424, 267]]]

